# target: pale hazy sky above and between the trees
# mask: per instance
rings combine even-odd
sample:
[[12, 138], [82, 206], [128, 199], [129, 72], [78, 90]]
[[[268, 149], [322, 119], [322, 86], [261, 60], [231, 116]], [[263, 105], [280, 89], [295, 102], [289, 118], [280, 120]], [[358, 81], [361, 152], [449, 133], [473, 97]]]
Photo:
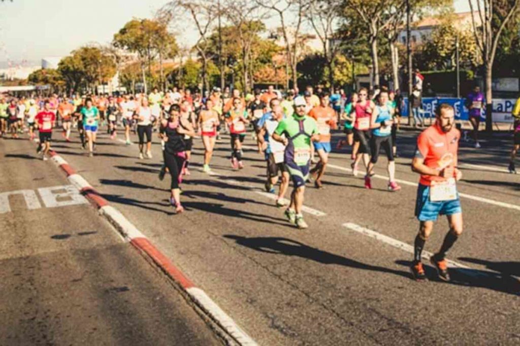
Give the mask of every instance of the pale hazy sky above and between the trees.
[[[133, 17], [151, 18], [167, 0], [14, 0], [0, 2], [0, 67], [7, 60], [40, 64], [45, 57], [67, 56], [93, 42], [108, 44]], [[457, 12], [467, 0], [454, 0]], [[270, 21], [276, 25], [276, 21]], [[269, 23], [268, 23], [269, 26]], [[184, 29], [181, 29], [184, 28]], [[179, 26], [177, 40], [190, 46], [193, 30]]]

